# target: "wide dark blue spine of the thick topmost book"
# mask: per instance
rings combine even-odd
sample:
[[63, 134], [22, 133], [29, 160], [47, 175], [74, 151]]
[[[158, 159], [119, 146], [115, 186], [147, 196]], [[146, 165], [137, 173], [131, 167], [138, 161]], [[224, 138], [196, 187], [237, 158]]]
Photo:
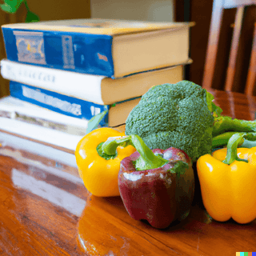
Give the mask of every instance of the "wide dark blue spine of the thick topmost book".
[[104, 34], [2, 28], [6, 56], [14, 62], [60, 70], [114, 75], [112, 37]]

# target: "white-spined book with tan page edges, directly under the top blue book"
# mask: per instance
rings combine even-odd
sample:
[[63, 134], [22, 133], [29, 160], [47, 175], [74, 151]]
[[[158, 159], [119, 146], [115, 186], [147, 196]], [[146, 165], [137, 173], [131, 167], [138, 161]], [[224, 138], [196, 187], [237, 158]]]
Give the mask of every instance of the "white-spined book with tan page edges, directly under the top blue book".
[[191, 62], [190, 60], [177, 66], [112, 79], [2, 59], [1, 74], [3, 78], [35, 86], [38, 89], [50, 90], [100, 105], [109, 105], [139, 97], [158, 84], [182, 81], [184, 66]]

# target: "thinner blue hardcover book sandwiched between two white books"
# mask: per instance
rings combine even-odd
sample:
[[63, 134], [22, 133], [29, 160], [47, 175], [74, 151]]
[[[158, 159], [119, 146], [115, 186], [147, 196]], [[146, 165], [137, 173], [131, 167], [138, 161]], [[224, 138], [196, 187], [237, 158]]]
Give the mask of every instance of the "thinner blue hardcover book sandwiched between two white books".
[[60, 114], [87, 121], [96, 114], [108, 110], [108, 113], [99, 123], [99, 126], [119, 126], [124, 124], [130, 110], [138, 104], [141, 98], [131, 98], [113, 105], [100, 105], [14, 81], [10, 81], [10, 96]]

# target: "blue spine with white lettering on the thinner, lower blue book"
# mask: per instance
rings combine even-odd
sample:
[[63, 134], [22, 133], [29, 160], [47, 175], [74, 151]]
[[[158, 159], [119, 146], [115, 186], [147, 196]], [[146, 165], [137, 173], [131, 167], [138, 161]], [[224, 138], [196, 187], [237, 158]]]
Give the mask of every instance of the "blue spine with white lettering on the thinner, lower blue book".
[[[78, 98], [55, 93], [50, 90], [38, 89], [20, 82], [10, 81], [10, 96], [19, 98], [22, 101], [42, 106], [60, 114], [74, 118], [90, 120], [96, 114], [109, 109], [109, 105], [99, 105], [94, 102], [83, 101]], [[99, 123], [100, 126], [107, 126], [108, 116]]]

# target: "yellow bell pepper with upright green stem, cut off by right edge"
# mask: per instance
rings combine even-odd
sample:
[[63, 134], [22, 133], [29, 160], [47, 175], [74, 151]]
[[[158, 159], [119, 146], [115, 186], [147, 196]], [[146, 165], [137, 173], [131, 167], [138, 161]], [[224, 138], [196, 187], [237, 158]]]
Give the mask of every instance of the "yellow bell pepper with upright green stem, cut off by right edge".
[[237, 149], [241, 142], [241, 134], [234, 134], [227, 149], [198, 158], [202, 201], [219, 222], [233, 218], [249, 223], [256, 218], [256, 147]]

